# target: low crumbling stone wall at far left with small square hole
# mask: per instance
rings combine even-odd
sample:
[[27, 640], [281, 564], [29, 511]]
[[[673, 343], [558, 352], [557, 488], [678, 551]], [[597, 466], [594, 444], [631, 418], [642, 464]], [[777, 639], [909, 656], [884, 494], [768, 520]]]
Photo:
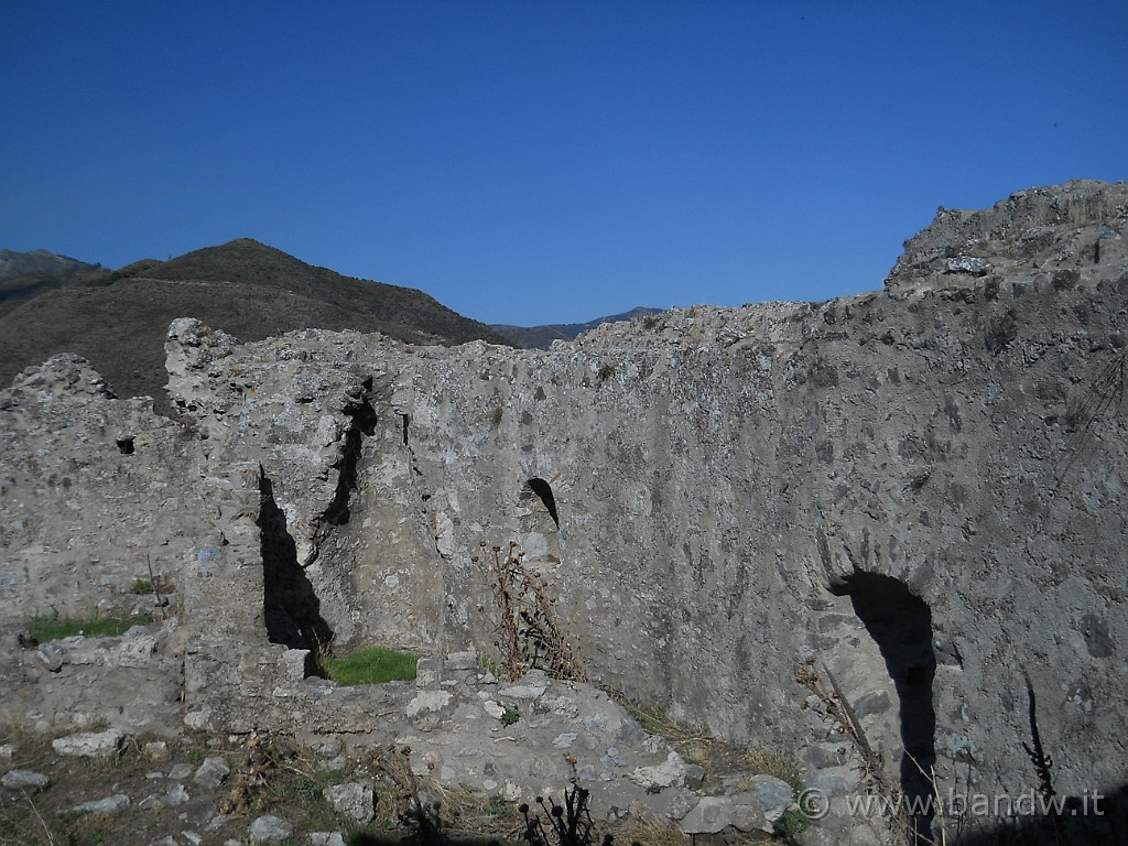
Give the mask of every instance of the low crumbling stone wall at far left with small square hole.
[[0, 391], [0, 618], [151, 611], [204, 525], [195, 437], [73, 355]]

